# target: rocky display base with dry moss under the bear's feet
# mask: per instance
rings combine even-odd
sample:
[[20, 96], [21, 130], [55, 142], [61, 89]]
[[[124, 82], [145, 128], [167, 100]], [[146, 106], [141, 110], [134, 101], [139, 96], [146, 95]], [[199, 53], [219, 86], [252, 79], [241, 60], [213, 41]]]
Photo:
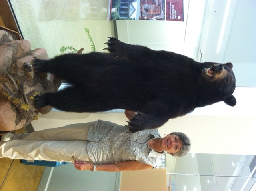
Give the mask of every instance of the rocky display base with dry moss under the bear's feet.
[[52, 107], [34, 108], [37, 94], [55, 92], [60, 79], [33, 70], [34, 58], [48, 60], [46, 50], [31, 50], [28, 40], [13, 40], [8, 32], [0, 30], [0, 130], [13, 131], [38, 119]]

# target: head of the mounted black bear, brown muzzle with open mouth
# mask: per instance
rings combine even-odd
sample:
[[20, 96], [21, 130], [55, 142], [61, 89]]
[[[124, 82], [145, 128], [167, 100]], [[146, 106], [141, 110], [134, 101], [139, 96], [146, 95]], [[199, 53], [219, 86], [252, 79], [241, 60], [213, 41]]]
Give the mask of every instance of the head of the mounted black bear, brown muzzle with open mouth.
[[236, 88], [236, 78], [232, 71], [233, 64], [230, 62], [206, 64], [208, 67], [202, 69], [202, 75], [200, 75], [204, 95], [207, 95], [209, 101], [224, 101], [227, 105], [236, 105], [236, 98], [232, 95]]

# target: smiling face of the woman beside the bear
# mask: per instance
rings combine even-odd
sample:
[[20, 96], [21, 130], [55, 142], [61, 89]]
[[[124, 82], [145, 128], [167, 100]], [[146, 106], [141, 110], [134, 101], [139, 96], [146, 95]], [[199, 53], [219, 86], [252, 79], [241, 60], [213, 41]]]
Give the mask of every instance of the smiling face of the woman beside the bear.
[[183, 144], [178, 135], [167, 135], [161, 141], [163, 151], [167, 151], [169, 154], [179, 152], [182, 146]]

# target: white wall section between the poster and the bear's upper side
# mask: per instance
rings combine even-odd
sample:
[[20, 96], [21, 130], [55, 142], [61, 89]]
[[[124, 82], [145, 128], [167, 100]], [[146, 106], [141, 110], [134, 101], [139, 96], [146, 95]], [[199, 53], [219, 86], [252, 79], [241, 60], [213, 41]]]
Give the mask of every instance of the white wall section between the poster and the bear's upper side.
[[118, 39], [197, 59], [205, 6], [206, 0], [184, 0], [184, 22], [118, 20]]

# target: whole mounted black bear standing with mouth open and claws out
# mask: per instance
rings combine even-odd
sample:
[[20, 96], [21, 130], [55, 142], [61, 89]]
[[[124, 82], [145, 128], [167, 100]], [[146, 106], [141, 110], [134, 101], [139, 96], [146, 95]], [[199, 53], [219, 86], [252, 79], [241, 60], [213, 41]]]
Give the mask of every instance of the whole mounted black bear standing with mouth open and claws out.
[[90, 52], [35, 59], [37, 72], [50, 72], [70, 84], [56, 93], [39, 95], [35, 107], [51, 105], [70, 112], [138, 111], [128, 125], [136, 132], [160, 127], [196, 107], [219, 101], [236, 105], [231, 63], [200, 63], [116, 38], [109, 38], [107, 44], [110, 54]]

